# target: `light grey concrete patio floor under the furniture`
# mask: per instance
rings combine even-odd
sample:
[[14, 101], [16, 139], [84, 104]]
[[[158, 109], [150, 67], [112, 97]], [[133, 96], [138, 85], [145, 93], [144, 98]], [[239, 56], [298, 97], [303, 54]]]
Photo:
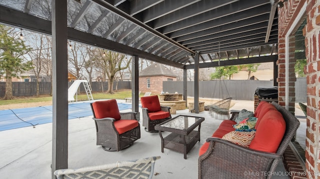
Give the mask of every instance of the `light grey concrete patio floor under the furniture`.
[[[124, 102], [123, 100], [117, 100]], [[253, 111], [253, 101], [234, 101], [230, 110], [247, 109]], [[141, 110], [141, 108], [140, 108]], [[126, 112], [130, 110], [124, 110]], [[96, 146], [95, 126], [92, 116], [71, 119], [69, 121], [68, 136], [68, 168], [81, 168], [102, 164], [115, 163], [139, 159], [149, 156], [160, 156], [155, 162], [153, 179], [197, 179], [198, 151], [205, 139], [210, 137], [213, 131], [221, 123], [213, 119], [207, 111], [199, 114], [189, 113], [188, 110], [178, 110], [175, 115], [201, 116], [205, 120], [201, 124], [201, 140], [196, 143], [183, 159], [183, 154], [164, 149], [161, 153], [160, 137], [158, 133], [147, 133], [140, 120], [141, 139], [119, 152], [106, 152], [101, 146]], [[296, 108], [297, 116], [303, 116], [303, 112]], [[140, 119], [142, 113], [140, 111]], [[297, 132], [297, 140], [302, 146], [305, 139], [305, 119], [301, 119]], [[166, 135], [168, 133], [164, 133]], [[0, 178], [1, 179], [50, 179], [51, 177], [51, 146], [52, 123], [37, 125], [35, 128], [24, 127], [0, 132]], [[277, 168], [278, 172], [285, 172], [283, 164]], [[274, 176], [272, 179], [288, 179], [287, 176]]]

